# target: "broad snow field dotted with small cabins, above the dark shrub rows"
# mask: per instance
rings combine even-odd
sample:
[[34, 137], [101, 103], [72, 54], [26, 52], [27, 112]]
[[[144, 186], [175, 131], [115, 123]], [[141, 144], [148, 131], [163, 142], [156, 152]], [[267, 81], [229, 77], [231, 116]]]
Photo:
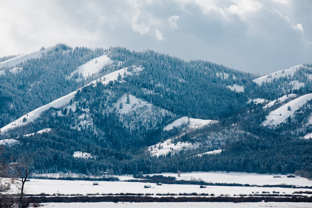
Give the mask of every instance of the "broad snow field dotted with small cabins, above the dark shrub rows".
[[[149, 174], [154, 175], [154, 174]], [[189, 172], [181, 173], [178, 177], [177, 173], [161, 173], [157, 175], [173, 176], [177, 180], [202, 180], [212, 183], [238, 183], [250, 185], [299, 185], [312, 186], [312, 181], [302, 177], [287, 178], [282, 175], [279, 178], [273, 178], [273, 175], [261, 175], [255, 173], [237, 173], [237, 172]], [[117, 176], [119, 177], [119, 176]], [[124, 176], [120, 176], [124, 177]], [[133, 179], [133, 177], [126, 177]], [[94, 181], [97, 181], [96, 179]], [[201, 189], [199, 185], [180, 185], [180, 184], [163, 184], [157, 186], [155, 183], [143, 182], [126, 182], [126, 181], [98, 181], [98, 186], [93, 186], [94, 181], [66, 181], [66, 180], [50, 180], [50, 179], [30, 179], [25, 184], [25, 192], [27, 194], [116, 194], [116, 193], [213, 193], [215, 196], [221, 194], [234, 196], [239, 194], [251, 194], [252, 191], [259, 192], [279, 191], [280, 193], [292, 194], [294, 191], [310, 191], [305, 188], [280, 188], [280, 187], [254, 187], [254, 186], [207, 186]], [[145, 185], [151, 185], [152, 188], [144, 188]], [[11, 186], [10, 192], [17, 190], [17, 187]], [[312, 195], [311, 195], [312, 196]]]

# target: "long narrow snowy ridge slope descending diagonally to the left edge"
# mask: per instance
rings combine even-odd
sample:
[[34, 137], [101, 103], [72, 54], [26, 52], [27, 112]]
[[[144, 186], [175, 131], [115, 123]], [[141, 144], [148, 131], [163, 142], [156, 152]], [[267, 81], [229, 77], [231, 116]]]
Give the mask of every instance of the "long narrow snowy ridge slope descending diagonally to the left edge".
[[[128, 67], [127, 67], [128, 68]], [[122, 78], [124, 78], [124, 75], [134, 75], [140, 71], [142, 71], [144, 68], [142, 67], [133, 67], [133, 70], [132, 71], [128, 71], [127, 68], [123, 68], [123, 69], [120, 69], [120, 70], [117, 70], [117, 71], [114, 71], [108, 75], [105, 75], [95, 81], [92, 81], [91, 83], [87, 84], [87, 85], [91, 85], [91, 84], [96, 84], [97, 82], [102, 82], [104, 85], [108, 84], [109, 81], [115, 81], [118, 79], [118, 75], [120, 74]], [[123, 81], [123, 80], [121, 80]], [[87, 86], [85, 85], [85, 86]], [[82, 89], [82, 88], [80, 88]], [[52, 101], [51, 103], [48, 103], [46, 105], [43, 105], [31, 112], [29, 112], [28, 114], [25, 114], [23, 115], [22, 117], [20, 117], [19, 119], [16, 119], [15, 121], [7, 124], [6, 126], [0, 128], [0, 133], [1, 132], [5, 132], [7, 131], [8, 129], [10, 128], [15, 128], [15, 127], [18, 127], [18, 126], [23, 126], [23, 125], [26, 125], [27, 123], [30, 123], [32, 121], [34, 121], [35, 119], [37, 119], [39, 117], [39, 115], [51, 108], [51, 107], [54, 107], [54, 108], [60, 108], [62, 106], [64, 106], [65, 104], [68, 104], [70, 102], [71, 99], [73, 99], [75, 97], [75, 95], [77, 94], [77, 91], [80, 90], [80, 89], [77, 89], [75, 90], [74, 92], [71, 92], [70, 94], [67, 94], [59, 99], [56, 99], [54, 101]], [[25, 122], [23, 122], [23, 119], [26, 118], [27, 120]]]

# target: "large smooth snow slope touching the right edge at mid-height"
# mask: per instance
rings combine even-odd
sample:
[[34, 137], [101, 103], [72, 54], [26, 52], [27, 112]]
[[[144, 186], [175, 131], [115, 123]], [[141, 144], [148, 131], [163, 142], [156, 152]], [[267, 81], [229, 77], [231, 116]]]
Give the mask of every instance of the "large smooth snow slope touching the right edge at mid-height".
[[[280, 106], [279, 108], [270, 112], [268, 116], [266, 116], [266, 121], [262, 123], [262, 125], [273, 126], [284, 122], [289, 116], [292, 116], [296, 110], [302, 107], [308, 100], [312, 99], [312, 94], [305, 94], [291, 100], [290, 102]], [[287, 107], [290, 106], [291, 110], [287, 110]]]

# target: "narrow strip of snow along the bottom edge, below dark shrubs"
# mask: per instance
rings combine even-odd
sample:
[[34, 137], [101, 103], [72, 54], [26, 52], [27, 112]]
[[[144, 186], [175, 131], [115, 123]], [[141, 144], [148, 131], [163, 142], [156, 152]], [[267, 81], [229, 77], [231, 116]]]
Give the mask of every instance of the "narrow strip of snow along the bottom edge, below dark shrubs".
[[181, 207], [211, 207], [211, 208], [221, 208], [221, 207], [232, 207], [232, 208], [256, 208], [256, 207], [280, 207], [280, 208], [293, 208], [293, 207], [306, 207], [312, 208], [311, 203], [299, 203], [299, 202], [244, 202], [244, 203], [232, 203], [232, 202], [89, 202], [89, 203], [43, 203], [44, 207], [88, 207], [88, 208], [98, 208], [98, 207], [170, 207], [170, 208], [181, 208]]

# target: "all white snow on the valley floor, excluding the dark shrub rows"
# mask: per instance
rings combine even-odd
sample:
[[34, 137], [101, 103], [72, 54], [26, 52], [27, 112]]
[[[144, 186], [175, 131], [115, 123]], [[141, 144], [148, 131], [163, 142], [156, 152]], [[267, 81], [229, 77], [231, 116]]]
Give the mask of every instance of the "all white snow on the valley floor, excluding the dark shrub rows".
[[[153, 174], [149, 174], [153, 175]], [[158, 174], [157, 174], [158, 175]], [[254, 173], [236, 173], [236, 172], [189, 172], [181, 173], [178, 177], [177, 173], [163, 173], [163, 176], [174, 176], [177, 180], [202, 180], [213, 183], [238, 183], [250, 185], [299, 185], [312, 186], [312, 181], [305, 178], [295, 177], [287, 178], [281, 176], [274, 178], [273, 175], [261, 175]], [[258, 187], [258, 186], [207, 186], [207, 188], [200, 188], [199, 185], [178, 185], [178, 184], [163, 184], [157, 186], [155, 183], [143, 182], [127, 182], [122, 180], [134, 179], [131, 175], [114, 176], [119, 177], [121, 181], [97, 181], [99, 185], [94, 186], [96, 181], [66, 181], [66, 180], [49, 180], [49, 179], [30, 179], [25, 184], [26, 194], [50, 194], [50, 195], [84, 195], [84, 196], [105, 196], [108, 194], [150, 194], [152, 197], [166, 197], [161, 194], [168, 194], [168, 196], [179, 197], [178, 194], [209, 194], [212, 196], [201, 197], [216, 197], [216, 196], [253, 196], [266, 194], [278, 195], [298, 195], [295, 191], [312, 191], [306, 188], [280, 188], [280, 187]], [[145, 185], [151, 185], [151, 188], [144, 188]], [[17, 187], [11, 185], [10, 192], [16, 193]], [[213, 196], [214, 195], [214, 196]], [[301, 194], [301, 196], [312, 196], [311, 194]], [[188, 196], [186, 196], [188, 197]], [[214, 203], [214, 202], [174, 202], [174, 203], [130, 203], [130, 202], [98, 202], [98, 203], [44, 203], [45, 206], [50, 207], [180, 207], [180, 206], [196, 206], [196, 207], [311, 207], [311, 203], [277, 203], [277, 202], [258, 202], [258, 203]]]

